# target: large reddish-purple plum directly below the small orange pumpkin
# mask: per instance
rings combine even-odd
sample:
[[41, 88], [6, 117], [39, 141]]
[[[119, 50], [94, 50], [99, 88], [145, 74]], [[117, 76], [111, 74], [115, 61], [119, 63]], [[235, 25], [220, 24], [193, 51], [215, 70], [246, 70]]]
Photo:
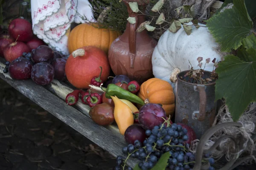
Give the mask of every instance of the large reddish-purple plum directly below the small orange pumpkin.
[[139, 122], [145, 129], [152, 130], [154, 126], [158, 126], [166, 119], [164, 109], [154, 103], [148, 103], [140, 108]]

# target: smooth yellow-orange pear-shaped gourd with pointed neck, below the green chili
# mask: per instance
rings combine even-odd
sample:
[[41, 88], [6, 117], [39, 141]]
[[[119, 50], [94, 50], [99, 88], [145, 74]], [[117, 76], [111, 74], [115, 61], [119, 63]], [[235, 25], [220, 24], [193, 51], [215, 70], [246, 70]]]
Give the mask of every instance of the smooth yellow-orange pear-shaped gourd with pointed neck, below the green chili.
[[122, 135], [125, 134], [125, 130], [134, 123], [134, 116], [131, 108], [118, 99], [116, 96], [111, 96], [115, 103], [114, 118], [118, 129]]

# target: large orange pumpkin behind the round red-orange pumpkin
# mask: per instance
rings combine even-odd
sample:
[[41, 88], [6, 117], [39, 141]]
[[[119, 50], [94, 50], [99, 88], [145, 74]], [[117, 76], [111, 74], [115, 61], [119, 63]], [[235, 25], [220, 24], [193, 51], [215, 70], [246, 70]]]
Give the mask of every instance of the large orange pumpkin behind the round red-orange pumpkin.
[[111, 43], [121, 34], [105, 28], [96, 28], [98, 23], [83, 23], [76, 26], [68, 37], [68, 51], [70, 54], [84, 46], [95, 46], [108, 54]]

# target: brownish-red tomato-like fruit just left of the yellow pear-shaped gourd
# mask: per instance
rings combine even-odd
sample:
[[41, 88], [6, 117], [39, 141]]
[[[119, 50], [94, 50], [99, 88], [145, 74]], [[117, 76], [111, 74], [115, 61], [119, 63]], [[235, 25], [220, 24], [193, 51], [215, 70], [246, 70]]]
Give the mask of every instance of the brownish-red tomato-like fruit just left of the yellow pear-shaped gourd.
[[93, 106], [89, 115], [93, 122], [101, 126], [111, 125], [114, 122], [114, 107], [108, 103]]

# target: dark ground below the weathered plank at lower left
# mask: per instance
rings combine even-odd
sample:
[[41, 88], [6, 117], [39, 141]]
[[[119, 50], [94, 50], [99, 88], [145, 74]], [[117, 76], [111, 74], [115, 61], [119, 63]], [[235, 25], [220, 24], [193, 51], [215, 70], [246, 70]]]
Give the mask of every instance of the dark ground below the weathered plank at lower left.
[[116, 159], [0, 79], [0, 170], [112, 170]]

